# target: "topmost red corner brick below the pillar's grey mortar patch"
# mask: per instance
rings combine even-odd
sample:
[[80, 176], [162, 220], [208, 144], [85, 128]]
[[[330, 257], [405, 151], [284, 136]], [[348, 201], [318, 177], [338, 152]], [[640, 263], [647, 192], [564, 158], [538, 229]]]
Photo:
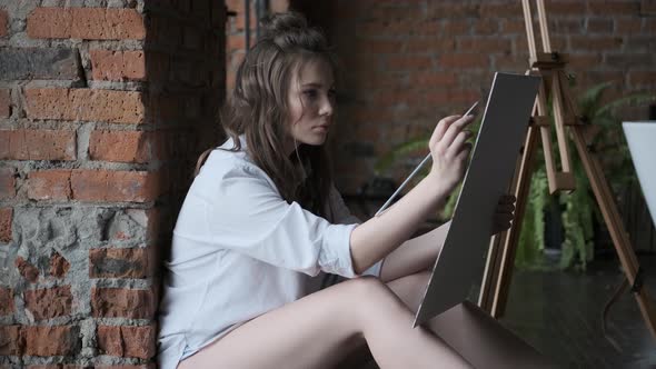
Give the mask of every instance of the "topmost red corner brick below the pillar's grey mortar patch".
[[148, 270], [146, 249], [89, 250], [89, 278], [146, 278]]

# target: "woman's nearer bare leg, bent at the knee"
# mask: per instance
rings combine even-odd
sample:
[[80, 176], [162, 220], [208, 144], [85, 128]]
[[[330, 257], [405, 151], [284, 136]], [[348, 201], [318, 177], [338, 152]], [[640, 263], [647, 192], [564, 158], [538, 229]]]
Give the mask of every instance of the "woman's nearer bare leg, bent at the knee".
[[380, 368], [467, 368], [380, 280], [356, 278], [269, 311], [178, 368], [330, 368], [364, 338]]

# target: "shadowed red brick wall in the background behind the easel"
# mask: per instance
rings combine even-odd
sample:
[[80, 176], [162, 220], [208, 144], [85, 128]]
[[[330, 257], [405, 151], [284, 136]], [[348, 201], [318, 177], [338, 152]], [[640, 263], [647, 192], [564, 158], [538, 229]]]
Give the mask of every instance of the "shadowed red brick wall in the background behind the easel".
[[[463, 113], [489, 89], [494, 71], [527, 68], [520, 1], [331, 3], [326, 17], [344, 64], [334, 152], [338, 187], [347, 193], [374, 174], [374, 162], [392, 146], [429, 134], [438, 117]], [[656, 92], [653, 1], [553, 0], [546, 8], [553, 48], [571, 54], [578, 90], [613, 80], [615, 96]], [[646, 119], [647, 108], [623, 117]], [[395, 168], [397, 183], [416, 163]]]

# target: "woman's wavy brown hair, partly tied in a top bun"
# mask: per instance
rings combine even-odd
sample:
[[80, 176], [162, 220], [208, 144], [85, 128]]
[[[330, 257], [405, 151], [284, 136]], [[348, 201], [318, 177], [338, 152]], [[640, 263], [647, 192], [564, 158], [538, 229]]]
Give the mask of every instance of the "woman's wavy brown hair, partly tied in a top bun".
[[[302, 66], [316, 61], [326, 61], [336, 71], [336, 59], [324, 34], [299, 13], [272, 14], [262, 20], [262, 28], [237, 70], [235, 89], [220, 114], [235, 142], [230, 151], [241, 150], [239, 136], [245, 134], [248, 154], [282, 198], [325, 217], [332, 181], [325, 146], [300, 144], [289, 156], [284, 143], [291, 134], [287, 99], [292, 73], [299, 76]], [[197, 171], [206, 157], [199, 158]]]

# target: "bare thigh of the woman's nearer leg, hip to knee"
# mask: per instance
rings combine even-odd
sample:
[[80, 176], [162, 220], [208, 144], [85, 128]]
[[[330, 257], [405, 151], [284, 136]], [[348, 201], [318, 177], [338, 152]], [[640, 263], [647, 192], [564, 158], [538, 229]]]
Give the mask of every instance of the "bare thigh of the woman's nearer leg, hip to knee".
[[345, 281], [259, 316], [178, 368], [331, 368], [364, 345], [351, 310], [354, 290], [366, 280]]

